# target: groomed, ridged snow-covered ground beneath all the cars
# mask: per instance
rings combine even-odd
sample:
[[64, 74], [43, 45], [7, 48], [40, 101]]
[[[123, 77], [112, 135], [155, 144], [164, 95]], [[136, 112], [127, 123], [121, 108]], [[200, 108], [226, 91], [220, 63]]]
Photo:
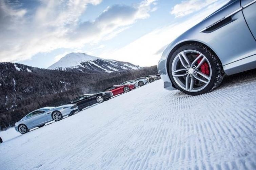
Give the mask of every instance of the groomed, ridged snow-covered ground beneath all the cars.
[[0, 169], [256, 169], [247, 75], [200, 96], [159, 80], [24, 135], [1, 132]]

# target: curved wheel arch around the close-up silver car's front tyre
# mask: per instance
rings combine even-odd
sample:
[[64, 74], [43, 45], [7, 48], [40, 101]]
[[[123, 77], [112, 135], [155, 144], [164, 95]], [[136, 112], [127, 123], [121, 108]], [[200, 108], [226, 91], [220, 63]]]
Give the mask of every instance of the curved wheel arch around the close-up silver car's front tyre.
[[[172, 79], [171, 79], [171, 77], [170, 77], [168, 65], [169, 65], [169, 62], [170, 62], [170, 59], [171, 59], [172, 54], [173, 54], [178, 48], [182, 47], [183, 45], [191, 44], [191, 43], [198, 43], [198, 44], [201, 44], [201, 45], [206, 46], [207, 48], [211, 49], [211, 50], [216, 54], [216, 56], [218, 57], [217, 53], [213, 50], [213, 48], [211, 48], [209, 45], [207, 45], [206, 43], [201, 42], [201, 41], [197, 41], [197, 40], [186, 40], [186, 41], [183, 41], [183, 42], [180, 42], [180, 43], [175, 44], [175, 46], [174, 46], [174, 47], [171, 49], [171, 51], [169, 52], [168, 57], [167, 57], [167, 59], [166, 59], [166, 63], [165, 63], [166, 73], [168, 74], [168, 77], [169, 77], [169, 79], [170, 79], [171, 82], [172, 82]], [[219, 57], [218, 57], [218, 59], [219, 59]], [[219, 60], [220, 60], [220, 59], [219, 59]], [[221, 60], [220, 60], [220, 63], [221, 63], [221, 65], [222, 65]], [[223, 68], [223, 65], [222, 65], [222, 68]], [[174, 86], [173, 82], [172, 82], [172, 86], [173, 86], [174, 88], [176, 88], [176, 87]]]

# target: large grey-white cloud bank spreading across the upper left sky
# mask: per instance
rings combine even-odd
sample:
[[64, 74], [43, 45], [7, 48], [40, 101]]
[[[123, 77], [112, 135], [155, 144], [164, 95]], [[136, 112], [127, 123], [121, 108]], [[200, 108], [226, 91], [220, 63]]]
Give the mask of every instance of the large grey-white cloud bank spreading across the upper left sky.
[[0, 62], [17, 62], [38, 53], [78, 49], [111, 39], [137, 20], [149, 17], [156, 0], [144, 0], [135, 6], [110, 6], [94, 21], [80, 23], [87, 5], [101, 1], [44, 0], [32, 11], [0, 0]]

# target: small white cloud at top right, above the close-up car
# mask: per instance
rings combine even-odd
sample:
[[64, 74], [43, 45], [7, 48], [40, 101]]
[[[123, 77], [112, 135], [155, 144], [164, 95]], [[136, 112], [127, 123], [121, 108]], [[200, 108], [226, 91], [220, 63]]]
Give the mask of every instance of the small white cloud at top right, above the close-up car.
[[194, 13], [204, 7], [207, 7], [210, 4], [213, 4], [218, 0], [186, 0], [182, 1], [181, 3], [175, 5], [172, 10], [171, 14], [175, 15], [175, 17], [183, 17]]

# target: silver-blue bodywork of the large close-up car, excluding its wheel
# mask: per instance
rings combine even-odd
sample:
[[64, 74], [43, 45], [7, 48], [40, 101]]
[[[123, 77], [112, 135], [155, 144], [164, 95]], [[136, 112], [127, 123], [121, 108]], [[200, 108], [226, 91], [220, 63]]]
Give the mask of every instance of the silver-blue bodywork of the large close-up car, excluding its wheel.
[[[256, 31], [255, 2], [256, 0], [231, 0], [168, 45], [157, 66], [164, 88], [176, 90], [168, 75], [170, 54], [183, 44], [192, 42], [211, 48], [219, 57], [227, 75], [256, 68], [256, 41], [253, 36]], [[246, 21], [251, 25], [247, 25]], [[216, 28], [213, 29], [214, 27]]]

